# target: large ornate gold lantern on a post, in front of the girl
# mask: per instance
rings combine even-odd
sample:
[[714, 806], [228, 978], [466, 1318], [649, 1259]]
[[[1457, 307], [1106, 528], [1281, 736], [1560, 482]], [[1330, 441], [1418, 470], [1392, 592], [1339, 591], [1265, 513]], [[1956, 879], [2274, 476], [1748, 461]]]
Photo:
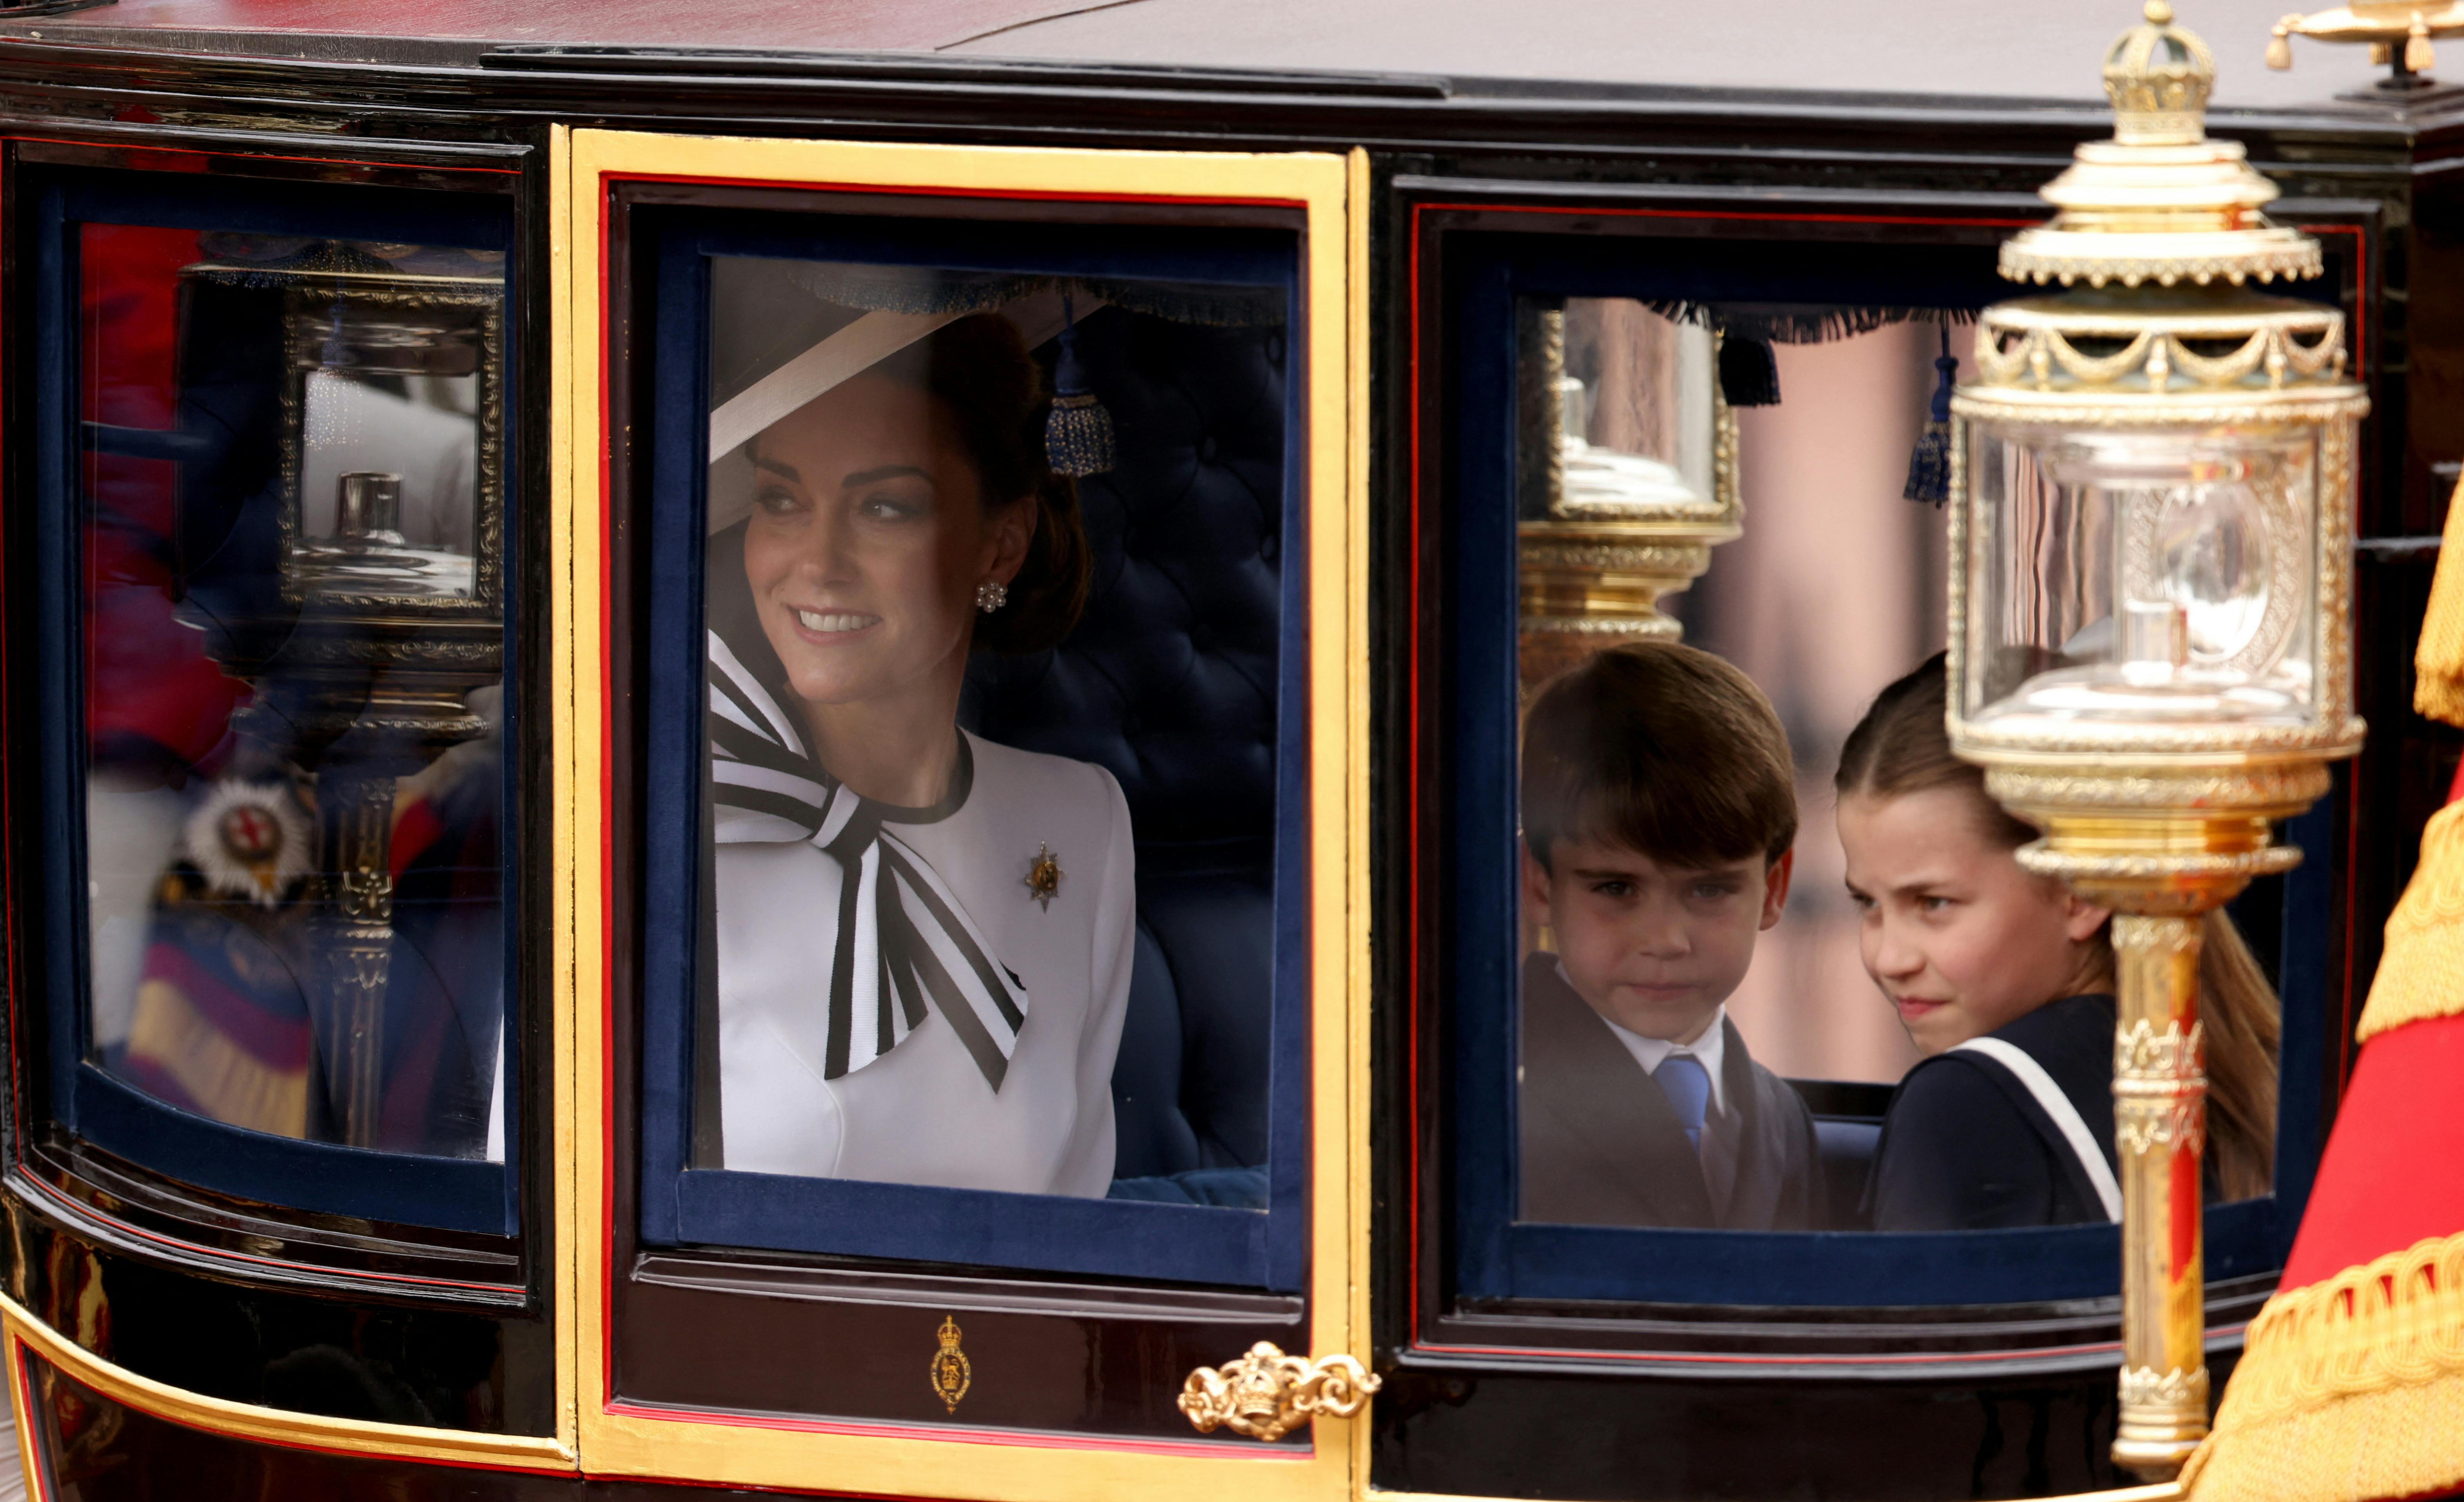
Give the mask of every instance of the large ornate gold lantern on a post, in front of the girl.
[[[2163, 0], [2104, 62], [2114, 138], [2001, 251], [2060, 288], [1979, 318], [1954, 414], [1951, 746], [2045, 837], [2020, 859], [2114, 909], [2122, 1426], [2178, 1470], [2208, 1431], [2200, 918], [2296, 849], [2272, 820], [2361, 749], [2343, 315], [2277, 190], [2205, 138], [2208, 47]], [[2181, 1187], [2181, 1192], [2176, 1192]]]

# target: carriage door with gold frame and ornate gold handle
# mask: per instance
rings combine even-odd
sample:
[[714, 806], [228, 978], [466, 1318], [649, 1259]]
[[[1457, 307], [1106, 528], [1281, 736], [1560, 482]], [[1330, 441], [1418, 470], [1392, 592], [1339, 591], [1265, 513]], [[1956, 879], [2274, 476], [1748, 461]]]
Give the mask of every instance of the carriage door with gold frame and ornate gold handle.
[[559, 170], [586, 1470], [1345, 1492], [1355, 165]]

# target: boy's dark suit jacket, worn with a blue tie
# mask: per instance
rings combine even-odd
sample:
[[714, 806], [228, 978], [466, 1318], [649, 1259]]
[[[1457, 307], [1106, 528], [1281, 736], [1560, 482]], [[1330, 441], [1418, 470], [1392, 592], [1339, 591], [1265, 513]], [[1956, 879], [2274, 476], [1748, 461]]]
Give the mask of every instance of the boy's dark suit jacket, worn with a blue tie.
[[1722, 1022], [1720, 1093], [1700, 1157], [1661, 1086], [1599, 1012], [1523, 963], [1523, 1214], [1572, 1226], [1811, 1231], [1823, 1224], [1821, 1157], [1804, 1101], [1754, 1064]]

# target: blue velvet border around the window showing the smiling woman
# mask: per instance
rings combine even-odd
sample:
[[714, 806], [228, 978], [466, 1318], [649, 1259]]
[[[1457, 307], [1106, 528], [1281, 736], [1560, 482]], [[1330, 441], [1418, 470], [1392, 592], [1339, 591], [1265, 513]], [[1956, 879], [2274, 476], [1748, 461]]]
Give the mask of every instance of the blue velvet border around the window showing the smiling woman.
[[[702, 517], [712, 256], [781, 256], [1284, 288], [1299, 310], [1299, 239], [1259, 229], [1133, 229], [638, 209], [655, 278], [643, 911], [695, 914], [702, 781]], [[1303, 372], [1301, 320], [1291, 362]], [[1306, 382], [1286, 382], [1284, 534], [1303, 537]], [[1301, 556], [1284, 549], [1286, 559]], [[1274, 1046], [1269, 1091], [1306, 1101], [1306, 593], [1281, 579], [1274, 830]], [[1000, 1194], [808, 1179], [690, 1165], [697, 926], [643, 933], [641, 1239], [986, 1268], [1299, 1290], [1306, 1266], [1306, 1110], [1276, 1110], [1266, 1209]]]

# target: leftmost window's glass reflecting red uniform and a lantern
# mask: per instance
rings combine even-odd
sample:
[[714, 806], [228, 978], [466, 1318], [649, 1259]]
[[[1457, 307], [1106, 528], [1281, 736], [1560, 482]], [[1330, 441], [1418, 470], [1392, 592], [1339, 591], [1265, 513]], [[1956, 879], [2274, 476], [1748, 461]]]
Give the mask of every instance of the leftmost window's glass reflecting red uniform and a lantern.
[[503, 256], [86, 224], [89, 1059], [503, 1157]]

